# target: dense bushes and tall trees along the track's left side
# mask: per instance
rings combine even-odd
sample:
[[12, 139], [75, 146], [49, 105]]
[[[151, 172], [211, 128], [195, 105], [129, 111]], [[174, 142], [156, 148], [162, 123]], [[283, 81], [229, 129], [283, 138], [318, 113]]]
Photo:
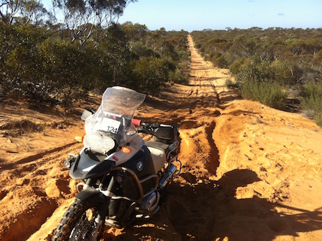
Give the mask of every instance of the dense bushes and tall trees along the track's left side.
[[0, 99], [69, 109], [113, 85], [157, 94], [188, 81], [188, 32], [116, 23], [130, 2], [54, 0], [51, 11], [41, 1], [3, 2]]

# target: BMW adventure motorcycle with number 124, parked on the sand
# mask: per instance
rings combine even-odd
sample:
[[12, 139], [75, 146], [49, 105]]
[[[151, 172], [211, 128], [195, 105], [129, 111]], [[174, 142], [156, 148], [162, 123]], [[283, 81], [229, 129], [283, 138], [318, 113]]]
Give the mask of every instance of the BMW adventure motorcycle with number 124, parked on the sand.
[[[181, 172], [180, 134], [174, 125], [134, 119], [145, 97], [107, 88], [97, 111], [83, 112], [84, 147], [64, 161], [69, 176], [81, 180], [78, 194], [52, 240], [99, 240], [104, 226], [124, 228], [160, 209], [167, 185]], [[145, 142], [139, 133], [153, 138]]]

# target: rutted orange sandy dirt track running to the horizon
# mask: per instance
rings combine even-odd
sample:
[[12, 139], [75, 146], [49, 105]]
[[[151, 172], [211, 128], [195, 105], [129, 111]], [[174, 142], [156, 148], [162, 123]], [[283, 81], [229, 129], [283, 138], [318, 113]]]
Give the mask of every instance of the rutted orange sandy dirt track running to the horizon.
[[[188, 40], [189, 85], [147, 98], [136, 116], [179, 125], [183, 171], [158, 214], [104, 239], [322, 240], [321, 128], [226, 90], [228, 70], [204, 62]], [[73, 137], [83, 123], [80, 109], [61, 113], [4, 104], [0, 240], [50, 240], [73, 200], [62, 161], [80, 150]]]

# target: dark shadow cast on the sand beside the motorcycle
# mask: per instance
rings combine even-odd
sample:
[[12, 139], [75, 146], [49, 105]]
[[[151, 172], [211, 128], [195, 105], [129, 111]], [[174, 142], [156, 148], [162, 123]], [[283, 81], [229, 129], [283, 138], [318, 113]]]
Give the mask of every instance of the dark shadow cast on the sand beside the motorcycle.
[[183, 173], [160, 212], [104, 240], [263, 240], [322, 229], [322, 207], [309, 211], [236, 190], [261, 181], [251, 170], [226, 172], [218, 181]]

